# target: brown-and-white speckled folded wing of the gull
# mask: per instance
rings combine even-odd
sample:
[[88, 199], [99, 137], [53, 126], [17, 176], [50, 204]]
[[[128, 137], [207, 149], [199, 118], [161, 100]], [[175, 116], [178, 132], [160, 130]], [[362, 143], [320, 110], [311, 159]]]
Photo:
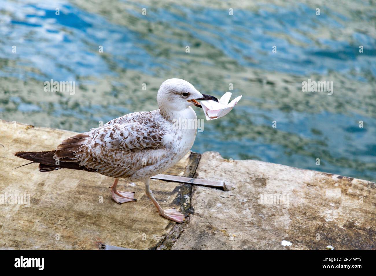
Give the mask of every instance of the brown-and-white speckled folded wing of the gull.
[[78, 162], [104, 175], [127, 177], [161, 160], [166, 131], [159, 122], [159, 110], [127, 114], [64, 140], [54, 158]]

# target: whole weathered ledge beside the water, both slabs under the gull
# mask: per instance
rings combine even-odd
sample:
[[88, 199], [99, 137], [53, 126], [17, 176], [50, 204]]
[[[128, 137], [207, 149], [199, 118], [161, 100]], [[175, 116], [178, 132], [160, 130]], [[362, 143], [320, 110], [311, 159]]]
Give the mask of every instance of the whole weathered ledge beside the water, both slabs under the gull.
[[[167, 174], [223, 180], [226, 191], [152, 180], [164, 207], [191, 213], [176, 224], [144, 192], [116, 204], [112, 179], [96, 173], [40, 173], [16, 151], [53, 149], [74, 133], [0, 121], [0, 249], [374, 249], [375, 183], [255, 160], [189, 153]], [[30, 195], [30, 207], [3, 195]], [[182, 200], [183, 199], [183, 200]], [[102, 201], [102, 202], [101, 202]], [[282, 245], [282, 241], [285, 241]], [[291, 245], [290, 245], [291, 243]]]

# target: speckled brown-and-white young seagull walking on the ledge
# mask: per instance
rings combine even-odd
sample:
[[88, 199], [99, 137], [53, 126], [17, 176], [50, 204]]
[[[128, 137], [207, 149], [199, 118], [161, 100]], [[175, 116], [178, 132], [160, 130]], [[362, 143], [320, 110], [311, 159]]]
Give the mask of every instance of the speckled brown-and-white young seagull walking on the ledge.
[[[183, 222], [185, 215], [171, 208], [163, 210], [150, 190], [150, 177], [164, 172], [182, 159], [193, 146], [197, 133], [192, 124], [197, 116], [192, 106], [201, 107], [197, 100], [217, 98], [201, 94], [188, 81], [171, 78], [159, 87], [159, 109], [134, 112], [113, 119], [101, 127], [79, 133], [63, 140], [55, 150], [25, 152], [14, 155], [39, 163], [39, 171], [62, 168], [97, 172], [115, 178], [110, 187], [118, 204], [137, 201], [134, 192], [116, 189], [119, 179], [143, 181], [146, 195], [158, 209], [159, 215]], [[179, 122], [179, 124], [177, 124]], [[23, 166], [25, 166], [23, 165]]]

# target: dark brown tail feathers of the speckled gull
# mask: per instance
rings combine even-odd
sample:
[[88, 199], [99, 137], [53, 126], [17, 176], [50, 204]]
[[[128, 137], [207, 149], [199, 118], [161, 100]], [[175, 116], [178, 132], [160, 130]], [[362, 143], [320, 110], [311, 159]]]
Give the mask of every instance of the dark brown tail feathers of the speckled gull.
[[96, 170], [80, 166], [76, 162], [60, 161], [59, 165], [56, 165], [56, 160], [53, 159], [54, 154], [55, 151], [18, 151], [14, 155], [26, 160], [33, 161], [33, 163], [39, 163], [39, 171], [41, 172], [49, 172], [51, 170], [58, 170], [61, 168], [73, 170], [86, 170], [87, 172], [96, 172]]

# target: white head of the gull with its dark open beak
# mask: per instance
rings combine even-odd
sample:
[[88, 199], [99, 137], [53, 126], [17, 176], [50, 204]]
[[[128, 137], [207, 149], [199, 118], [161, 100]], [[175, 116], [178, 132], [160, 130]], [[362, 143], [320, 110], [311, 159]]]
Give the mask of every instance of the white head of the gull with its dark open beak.
[[217, 98], [201, 94], [188, 81], [180, 78], [165, 80], [159, 87], [157, 101], [159, 109], [181, 111], [189, 106], [201, 107], [196, 100], [213, 100]]

